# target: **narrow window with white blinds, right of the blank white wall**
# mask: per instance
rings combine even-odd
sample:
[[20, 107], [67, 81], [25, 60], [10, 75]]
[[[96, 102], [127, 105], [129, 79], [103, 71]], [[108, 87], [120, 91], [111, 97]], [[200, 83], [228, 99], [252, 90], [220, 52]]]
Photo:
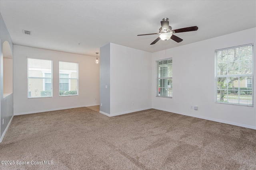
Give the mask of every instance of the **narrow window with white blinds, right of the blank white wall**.
[[156, 61], [156, 96], [172, 98], [172, 58]]

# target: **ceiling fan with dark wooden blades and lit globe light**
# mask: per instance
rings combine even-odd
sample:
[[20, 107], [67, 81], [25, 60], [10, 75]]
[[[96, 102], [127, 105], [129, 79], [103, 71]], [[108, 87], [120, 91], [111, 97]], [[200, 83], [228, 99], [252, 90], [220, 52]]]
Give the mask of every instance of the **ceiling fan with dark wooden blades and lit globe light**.
[[172, 40], [176, 41], [177, 43], [180, 43], [181, 41], [183, 41], [183, 39], [177, 37], [176, 35], [173, 35], [173, 33], [182, 33], [182, 32], [188, 32], [188, 31], [196, 31], [196, 30], [198, 30], [197, 26], [172, 30], [172, 27], [169, 25], [169, 18], [164, 18], [161, 21], [161, 27], [159, 28], [159, 33], [140, 34], [137, 36], [158, 34], [159, 37], [155, 41], [153, 41], [150, 45], [155, 44], [160, 39], [165, 40], [165, 41], [168, 39], [172, 39]]

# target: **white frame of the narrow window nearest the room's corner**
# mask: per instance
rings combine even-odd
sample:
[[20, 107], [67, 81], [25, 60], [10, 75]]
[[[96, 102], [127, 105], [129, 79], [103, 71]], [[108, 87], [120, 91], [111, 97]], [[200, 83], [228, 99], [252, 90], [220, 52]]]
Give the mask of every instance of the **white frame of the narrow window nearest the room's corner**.
[[[161, 59], [161, 60], [157, 60], [156, 61], [156, 97], [160, 97], [160, 98], [172, 98], [172, 82], [170, 83], [170, 85], [168, 85], [168, 83], [169, 83], [169, 79], [171, 79], [172, 80], [172, 76], [171, 77], [168, 77], [168, 73], [167, 73], [167, 76], [166, 77], [159, 77], [159, 62], [161, 62], [161, 61], [167, 61], [168, 62], [168, 60], [170, 60], [170, 63], [171, 63], [171, 65], [172, 65], [172, 57], [170, 57], [170, 58], [167, 58], [167, 59]], [[167, 68], [167, 72], [168, 72], [168, 68]], [[171, 71], [172, 72], [172, 71]], [[166, 82], [166, 84], [167, 84], [167, 86], [171, 86], [170, 88], [171, 88], [171, 91], [169, 91], [169, 92], [167, 92], [167, 94], [168, 93], [170, 93], [170, 96], [160, 96], [159, 95], [159, 80], [166, 80], [167, 82]], [[163, 87], [162, 87], [163, 88]], [[168, 87], [167, 87], [168, 88]]]

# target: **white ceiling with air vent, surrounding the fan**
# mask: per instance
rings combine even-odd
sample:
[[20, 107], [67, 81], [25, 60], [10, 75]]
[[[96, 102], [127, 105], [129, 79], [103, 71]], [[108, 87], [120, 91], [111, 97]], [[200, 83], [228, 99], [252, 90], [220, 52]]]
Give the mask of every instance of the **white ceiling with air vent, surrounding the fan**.
[[[16, 45], [89, 56], [108, 43], [156, 52], [256, 27], [255, 0], [0, 0], [0, 12]], [[176, 33], [181, 43], [137, 36], [158, 33], [163, 18], [172, 29], [199, 29]]]

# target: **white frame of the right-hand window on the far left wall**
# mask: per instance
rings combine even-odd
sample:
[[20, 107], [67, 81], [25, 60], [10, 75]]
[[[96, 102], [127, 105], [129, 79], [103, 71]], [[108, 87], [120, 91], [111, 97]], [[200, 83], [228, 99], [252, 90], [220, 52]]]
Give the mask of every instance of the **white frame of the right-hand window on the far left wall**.
[[[71, 78], [71, 74], [72, 71], [70, 70], [60, 70], [60, 63], [72, 63], [72, 64], [76, 64], [76, 78]], [[60, 74], [68, 74], [68, 78], [60, 78]], [[69, 61], [59, 61], [59, 82], [58, 82], [58, 86], [59, 86], [59, 97], [66, 97], [66, 96], [78, 96], [78, 63], [74, 63], [74, 62], [69, 62]], [[71, 80], [76, 80], [76, 84], [77, 84], [77, 90], [76, 90], [76, 94], [69, 94], [69, 95], [60, 95], [60, 79], [67, 79], [68, 80], [68, 91], [72, 91], [71, 90]], [[66, 91], [66, 92], [68, 92]]]

